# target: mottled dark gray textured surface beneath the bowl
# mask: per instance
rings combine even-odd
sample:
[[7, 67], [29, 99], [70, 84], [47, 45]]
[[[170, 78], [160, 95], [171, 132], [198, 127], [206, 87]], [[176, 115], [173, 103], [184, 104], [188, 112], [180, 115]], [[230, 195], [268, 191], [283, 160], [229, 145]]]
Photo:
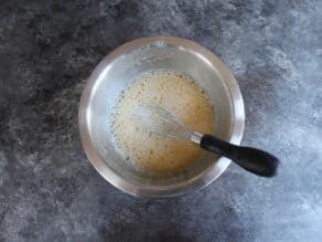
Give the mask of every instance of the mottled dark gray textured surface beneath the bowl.
[[[322, 1], [0, 3], [0, 241], [321, 241]], [[114, 48], [189, 38], [239, 81], [245, 145], [282, 160], [275, 179], [232, 165], [173, 199], [124, 194], [87, 161], [82, 88]]]

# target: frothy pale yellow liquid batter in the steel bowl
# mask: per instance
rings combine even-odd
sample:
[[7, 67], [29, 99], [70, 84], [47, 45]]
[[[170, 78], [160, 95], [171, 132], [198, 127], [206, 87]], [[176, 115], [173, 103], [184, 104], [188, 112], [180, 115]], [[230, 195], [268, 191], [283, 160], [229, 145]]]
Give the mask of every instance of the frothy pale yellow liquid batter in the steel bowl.
[[214, 109], [192, 77], [151, 71], [135, 80], [119, 96], [111, 130], [126, 159], [143, 171], [178, 171], [192, 165], [201, 148], [190, 141], [147, 133], [131, 118], [136, 106], [161, 106], [193, 130], [213, 133]]

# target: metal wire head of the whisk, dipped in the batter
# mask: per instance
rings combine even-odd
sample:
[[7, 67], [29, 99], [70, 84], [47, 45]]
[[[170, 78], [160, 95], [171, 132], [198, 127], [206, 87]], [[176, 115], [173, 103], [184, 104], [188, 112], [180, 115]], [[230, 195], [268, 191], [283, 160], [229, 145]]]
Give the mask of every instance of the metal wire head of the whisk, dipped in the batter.
[[138, 106], [132, 117], [142, 124], [144, 130], [159, 136], [191, 140], [194, 133], [160, 106]]

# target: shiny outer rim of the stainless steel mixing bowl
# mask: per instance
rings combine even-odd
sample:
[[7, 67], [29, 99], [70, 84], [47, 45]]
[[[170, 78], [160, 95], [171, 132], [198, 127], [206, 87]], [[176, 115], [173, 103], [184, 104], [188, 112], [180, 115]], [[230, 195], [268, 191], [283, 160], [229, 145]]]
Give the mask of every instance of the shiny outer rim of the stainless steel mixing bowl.
[[222, 82], [225, 83], [230, 95], [233, 125], [230, 128], [228, 141], [235, 145], [239, 145], [245, 127], [245, 107], [238, 83], [234, 75], [225, 66], [225, 64], [206, 48], [191, 40], [171, 35], [144, 36], [120, 45], [106, 55], [90, 74], [79, 101], [78, 128], [83, 148], [97, 172], [116, 188], [122, 190], [126, 193], [139, 197], [172, 197], [204, 188], [217, 179], [230, 164], [229, 159], [219, 157], [216, 162], [214, 162], [214, 166], [211, 166], [208, 169], [204, 170], [191, 180], [179, 182], [172, 186], [151, 186], [133, 183], [124, 179], [106, 165], [106, 161], [100, 157], [98, 150], [95, 148], [89, 129], [88, 108], [93, 91], [95, 90], [96, 81], [99, 78], [99, 75], [103, 73], [103, 71], [117, 57], [133, 51], [135, 49], [153, 44], [155, 42], [162, 42], [174, 48], [193, 52], [198, 57], [202, 57], [205, 62], [213, 65], [217, 70]]

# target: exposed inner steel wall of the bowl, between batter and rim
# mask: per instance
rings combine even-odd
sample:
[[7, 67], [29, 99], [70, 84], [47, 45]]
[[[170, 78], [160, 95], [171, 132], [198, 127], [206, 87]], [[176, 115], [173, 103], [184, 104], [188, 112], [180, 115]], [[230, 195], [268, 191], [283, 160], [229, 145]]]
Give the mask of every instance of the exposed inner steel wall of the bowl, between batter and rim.
[[[185, 48], [164, 42], [153, 42], [117, 56], [99, 69], [86, 106], [86, 125], [90, 143], [119, 181], [167, 190], [171, 186], [186, 186], [210, 169], [219, 166], [216, 156], [204, 152], [189, 169], [178, 173], [146, 175], [125, 161], [121, 150], [115, 146], [110, 133], [110, 115], [120, 92], [135, 76], [151, 70], [171, 70], [192, 76], [207, 93], [215, 109], [214, 135], [229, 140], [234, 125], [232, 97], [218, 70], [203, 55]], [[93, 76], [92, 76], [93, 77]]]

